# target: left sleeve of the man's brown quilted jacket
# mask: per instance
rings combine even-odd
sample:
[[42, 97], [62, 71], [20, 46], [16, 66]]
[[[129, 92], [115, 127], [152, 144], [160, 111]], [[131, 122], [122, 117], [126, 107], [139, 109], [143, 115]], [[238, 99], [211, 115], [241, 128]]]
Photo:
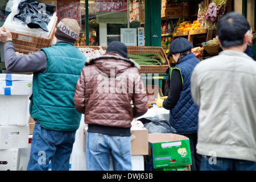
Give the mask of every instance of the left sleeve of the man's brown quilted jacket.
[[84, 69], [82, 69], [79, 80], [77, 80], [75, 95], [75, 109], [79, 111], [79, 113], [84, 114], [85, 112], [85, 76]]

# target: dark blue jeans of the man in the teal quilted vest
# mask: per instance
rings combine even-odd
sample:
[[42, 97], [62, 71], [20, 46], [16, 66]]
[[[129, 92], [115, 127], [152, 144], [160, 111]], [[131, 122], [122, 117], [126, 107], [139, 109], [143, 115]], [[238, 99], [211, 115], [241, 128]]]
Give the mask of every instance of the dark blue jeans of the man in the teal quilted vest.
[[47, 130], [36, 123], [27, 170], [48, 171], [51, 160], [52, 171], [68, 171], [75, 134], [76, 131]]

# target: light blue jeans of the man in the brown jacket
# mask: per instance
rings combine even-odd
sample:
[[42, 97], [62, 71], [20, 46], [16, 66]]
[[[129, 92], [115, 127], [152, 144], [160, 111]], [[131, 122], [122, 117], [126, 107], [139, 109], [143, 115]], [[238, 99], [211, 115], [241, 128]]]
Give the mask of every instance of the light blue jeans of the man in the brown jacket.
[[109, 171], [110, 155], [114, 171], [131, 171], [131, 139], [98, 133], [87, 134], [88, 171]]

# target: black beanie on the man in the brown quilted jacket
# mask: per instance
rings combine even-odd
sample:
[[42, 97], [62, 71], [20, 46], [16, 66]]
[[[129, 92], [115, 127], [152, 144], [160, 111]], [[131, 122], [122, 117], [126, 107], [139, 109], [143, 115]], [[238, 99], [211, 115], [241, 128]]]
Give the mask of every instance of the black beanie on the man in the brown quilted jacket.
[[106, 53], [108, 53], [108, 52], [118, 53], [119, 55], [121, 55], [125, 58], [127, 58], [127, 56], [128, 56], [126, 45], [119, 41], [111, 42], [106, 49]]

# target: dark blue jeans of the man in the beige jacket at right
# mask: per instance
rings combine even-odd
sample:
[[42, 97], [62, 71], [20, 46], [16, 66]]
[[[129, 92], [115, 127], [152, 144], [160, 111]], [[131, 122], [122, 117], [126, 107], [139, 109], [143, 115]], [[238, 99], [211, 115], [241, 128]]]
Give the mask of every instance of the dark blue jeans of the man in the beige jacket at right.
[[215, 159], [203, 156], [200, 171], [256, 171], [256, 162], [248, 160], [216, 158], [215, 164], [210, 164]]

